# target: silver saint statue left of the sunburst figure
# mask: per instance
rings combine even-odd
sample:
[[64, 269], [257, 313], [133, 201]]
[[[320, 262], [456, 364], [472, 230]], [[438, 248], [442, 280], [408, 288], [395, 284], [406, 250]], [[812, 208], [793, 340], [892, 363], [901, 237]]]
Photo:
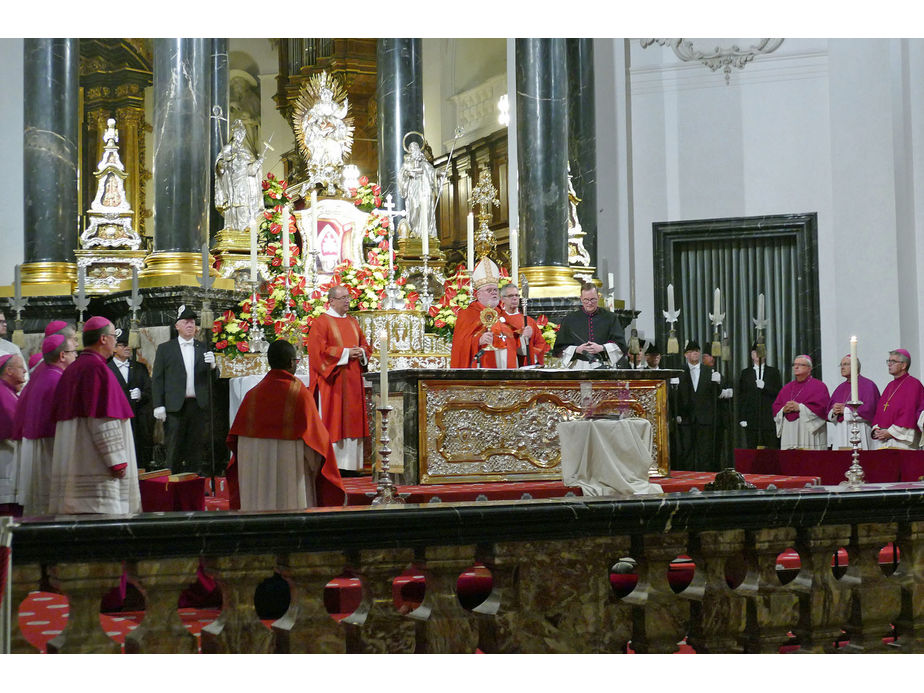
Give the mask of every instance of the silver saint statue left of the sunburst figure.
[[215, 208], [225, 218], [225, 228], [243, 231], [257, 223], [263, 211], [263, 157], [244, 144], [247, 130], [241, 120], [231, 125], [231, 141], [215, 162]]

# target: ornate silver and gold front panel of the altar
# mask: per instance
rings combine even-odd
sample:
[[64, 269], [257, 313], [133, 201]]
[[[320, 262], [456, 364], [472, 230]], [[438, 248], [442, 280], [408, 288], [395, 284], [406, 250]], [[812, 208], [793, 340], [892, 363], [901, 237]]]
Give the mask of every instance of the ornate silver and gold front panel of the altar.
[[[421, 484], [561, 479], [558, 423], [584, 418], [580, 380], [418, 386]], [[663, 380], [594, 382], [590, 409], [645, 418], [654, 431], [652, 473], [669, 471]]]

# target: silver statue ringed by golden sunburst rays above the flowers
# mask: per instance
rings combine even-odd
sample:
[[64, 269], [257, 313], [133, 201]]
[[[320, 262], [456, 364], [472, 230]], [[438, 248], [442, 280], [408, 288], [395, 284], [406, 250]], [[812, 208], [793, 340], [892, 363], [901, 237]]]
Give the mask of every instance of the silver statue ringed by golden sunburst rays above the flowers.
[[353, 151], [353, 116], [346, 89], [327, 72], [312, 75], [299, 91], [292, 111], [298, 149], [308, 169], [308, 185], [322, 185], [329, 195], [343, 180], [343, 166]]

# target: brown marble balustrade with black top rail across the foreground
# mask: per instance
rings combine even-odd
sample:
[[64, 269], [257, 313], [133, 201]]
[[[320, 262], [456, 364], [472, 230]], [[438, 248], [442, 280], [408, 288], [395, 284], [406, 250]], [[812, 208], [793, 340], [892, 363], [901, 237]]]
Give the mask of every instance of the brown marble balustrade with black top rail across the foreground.
[[[704, 653], [776, 652], [793, 642], [789, 633], [807, 652], [922, 652], [922, 501], [924, 488], [816, 487], [27, 520], [13, 530], [13, 611], [39, 588], [44, 565], [51, 589], [70, 601], [68, 625], [49, 649], [118, 652], [98, 611], [124, 565], [146, 600], [126, 650], [194, 652], [176, 603], [204, 558], [223, 595], [221, 615], [202, 633], [204, 652], [596, 653], [629, 644], [669, 653], [684, 637]], [[879, 563], [891, 542], [901, 558], [894, 572]], [[777, 556], [789, 548], [801, 570], [784, 582]], [[834, 571], [839, 548], [848, 567]], [[696, 567], [675, 593], [669, 566], [681, 555]], [[491, 571], [493, 591], [469, 611], [456, 584], [475, 563]], [[408, 567], [427, 587], [419, 608], [399, 613], [392, 581]], [[628, 594], [611, 587], [614, 568], [637, 573]], [[274, 569], [292, 599], [268, 629], [253, 594]], [[324, 585], [345, 570], [360, 577], [363, 599], [337, 623]], [[886, 644], [890, 625], [897, 637]], [[845, 633], [849, 645], [836, 647]], [[33, 651], [15, 625], [12, 643], [14, 652]]]

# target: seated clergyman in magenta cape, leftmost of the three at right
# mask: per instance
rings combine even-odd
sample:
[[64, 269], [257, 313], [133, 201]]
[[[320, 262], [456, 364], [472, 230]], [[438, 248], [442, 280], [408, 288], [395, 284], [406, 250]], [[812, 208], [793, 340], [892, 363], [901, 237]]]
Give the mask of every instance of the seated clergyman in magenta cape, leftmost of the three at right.
[[792, 361], [793, 380], [786, 383], [771, 407], [783, 450], [824, 450], [828, 447], [828, 387], [812, 377], [812, 359]]

